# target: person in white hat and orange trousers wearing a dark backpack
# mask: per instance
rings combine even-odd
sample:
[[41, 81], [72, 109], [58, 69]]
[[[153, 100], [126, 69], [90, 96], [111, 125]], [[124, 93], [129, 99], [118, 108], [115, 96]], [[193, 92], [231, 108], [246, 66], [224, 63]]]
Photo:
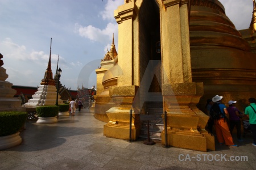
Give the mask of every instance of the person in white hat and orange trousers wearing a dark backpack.
[[237, 147], [237, 145], [234, 145], [233, 143], [228, 123], [225, 121], [225, 114], [228, 114], [228, 110], [226, 109], [226, 106], [221, 103], [222, 98], [222, 96], [218, 95], [212, 98], [214, 104], [212, 105], [212, 108], [210, 108], [210, 117], [214, 120], [219, 144], [223, 145], [225, 141], [225, 145], [228, 145], [229, 147]]

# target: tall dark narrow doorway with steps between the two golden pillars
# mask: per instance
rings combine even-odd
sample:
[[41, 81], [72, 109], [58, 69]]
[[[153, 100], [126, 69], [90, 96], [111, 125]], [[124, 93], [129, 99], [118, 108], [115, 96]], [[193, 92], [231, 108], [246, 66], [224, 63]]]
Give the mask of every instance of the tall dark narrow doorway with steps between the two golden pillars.
[[[142, 2], [139, 9], [139, 80], [141, 115], [150, 121], [150, 138], [159, 139], [163, 129], [162, 63], [160, 49], [160, 12], [155, 0]], [[142, 119], [142, 118], [141, 118]], [[147, 135], [147, 121], [142, 122], [141, 137]]]

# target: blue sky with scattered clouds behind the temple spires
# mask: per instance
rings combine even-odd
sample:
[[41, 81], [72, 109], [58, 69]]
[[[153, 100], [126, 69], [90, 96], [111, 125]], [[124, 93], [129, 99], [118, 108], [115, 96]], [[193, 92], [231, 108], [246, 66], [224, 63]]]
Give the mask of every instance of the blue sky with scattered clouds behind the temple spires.
[[[219, 0], [238, 30], [249, 28], [253, 0]], [[9, 77], [19, 86], [37, 87], [57, 58], [60, 82], [71, 90], [96, 86], [100, 67], [118, 25], [114, 10], [123, 0], [0, 0], [0, 53]], [[97, 87], [96, 87], [97, 88]]]

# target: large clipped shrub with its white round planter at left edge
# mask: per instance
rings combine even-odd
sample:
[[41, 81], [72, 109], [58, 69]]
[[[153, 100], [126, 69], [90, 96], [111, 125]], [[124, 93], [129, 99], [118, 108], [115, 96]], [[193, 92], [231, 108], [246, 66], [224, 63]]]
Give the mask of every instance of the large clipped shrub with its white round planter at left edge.
[[27, 112], [0, 112], [0, 150], [20, 145], [19, 130], [27, 120]]

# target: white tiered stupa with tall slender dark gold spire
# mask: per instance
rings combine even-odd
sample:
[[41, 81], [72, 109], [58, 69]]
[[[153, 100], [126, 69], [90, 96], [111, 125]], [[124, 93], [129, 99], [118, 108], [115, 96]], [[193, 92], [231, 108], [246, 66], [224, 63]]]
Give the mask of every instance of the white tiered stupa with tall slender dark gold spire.
[[[43, 105], [55, 105], [57, 97], [57, 89], [55, 86], [55, 80], [52, 78], [51, 69], [51, 50], [52, 50], [52, 39], [49, 54], [49, 62], [44, 78], [42, 79], [41, 85], [38, 87], [38, 91], [35, 95], [32, 95], [32, 99], [28, 100], [23, 107], [37, 107]], [[58, 103], [63, 104], [63, 100], [58, 95]]]

